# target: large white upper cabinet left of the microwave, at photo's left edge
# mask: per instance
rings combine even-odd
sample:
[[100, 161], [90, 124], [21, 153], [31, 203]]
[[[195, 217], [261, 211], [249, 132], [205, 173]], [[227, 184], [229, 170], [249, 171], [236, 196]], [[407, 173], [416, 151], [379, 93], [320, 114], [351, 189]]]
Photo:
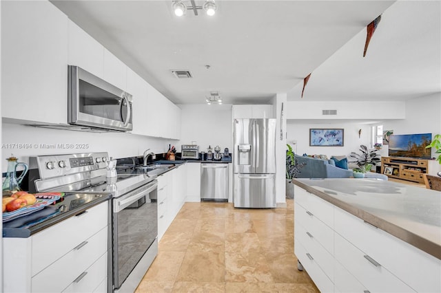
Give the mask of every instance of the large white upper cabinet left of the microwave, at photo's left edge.
[[49, 1], [1, 2], [1, 116], [68, 122], [68, 17]]

